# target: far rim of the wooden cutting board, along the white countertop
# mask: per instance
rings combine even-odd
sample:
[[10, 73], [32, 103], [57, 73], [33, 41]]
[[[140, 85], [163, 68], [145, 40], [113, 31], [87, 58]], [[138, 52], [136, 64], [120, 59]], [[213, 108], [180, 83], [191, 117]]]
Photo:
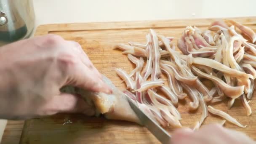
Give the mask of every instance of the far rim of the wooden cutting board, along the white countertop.
[[[43, 24], [37, 27], [35, 36], [45, 35], [48, 32], [56, 31], [79, 31], [79, 30], [104, 30], [104, 29], [149, 29], [164, 27], [197, 27], [208, 26], [217, 19], [232, 19], [245, 25], [255, 24], [255, 17], [230, 17], [211, 19], [176, 19], [176, 20], [155, 20], [155, 21], [116, 21], [116, 22], [89, 22], [89, 23], [68, 23], [68, 24]], [[202, 21], [203, 20], [203, 21]], [[170, 23], [172, 24], [170, 26]]]

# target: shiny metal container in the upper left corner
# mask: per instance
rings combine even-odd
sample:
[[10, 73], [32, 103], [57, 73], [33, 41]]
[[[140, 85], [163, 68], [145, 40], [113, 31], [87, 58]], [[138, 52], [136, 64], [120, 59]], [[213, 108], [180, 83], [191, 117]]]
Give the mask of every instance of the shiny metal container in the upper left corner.
[[30, 37], [34, 27], [33, 0], [0, 0], [0, 46]]

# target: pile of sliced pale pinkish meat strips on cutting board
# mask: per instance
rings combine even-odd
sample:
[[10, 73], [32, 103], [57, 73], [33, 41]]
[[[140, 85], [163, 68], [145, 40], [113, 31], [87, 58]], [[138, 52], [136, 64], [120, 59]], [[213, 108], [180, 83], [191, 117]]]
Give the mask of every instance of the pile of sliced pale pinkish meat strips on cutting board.
[[[231, 108], [240, 99], [247, 115], [256, 78], [256, 34], [252, 29], [232, 20], [214, 21], [207, 30], [186, 27], [178, 40], [176, 51], [173, 37], [158, 35], [150, 29], [146, 43], [129, 42], [115, 48], [136, 64], [131, 72], [117, 68], [127, 85], [123, 91], [137, 101], [139, 107], [163, 127], [181, 127], [178, 101], [189, 97], [189, 110], [199, 106], [202, 116], [195, 128], [200, 128], [208, 112], [245, 128], [235, 118], [210, 104], [228, 100]], [[161, 75], [168, 77], [168, 85]], [[202, 79], [210, 80], [207, 88]], [[185, 93], [186, 91], [186, 93]], [[164, 95], [160, 95], [163, 93]]]

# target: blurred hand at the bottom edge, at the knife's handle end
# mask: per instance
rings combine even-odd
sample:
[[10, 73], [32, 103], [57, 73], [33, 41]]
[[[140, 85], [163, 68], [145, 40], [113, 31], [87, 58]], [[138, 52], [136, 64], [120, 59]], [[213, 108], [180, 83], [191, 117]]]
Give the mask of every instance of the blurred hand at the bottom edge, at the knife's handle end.
[[244, 133], [233, 131], [221, 125], [205, 125], [198, 131], [179, 129], [172, 135], [172, 144], [255, 144]]

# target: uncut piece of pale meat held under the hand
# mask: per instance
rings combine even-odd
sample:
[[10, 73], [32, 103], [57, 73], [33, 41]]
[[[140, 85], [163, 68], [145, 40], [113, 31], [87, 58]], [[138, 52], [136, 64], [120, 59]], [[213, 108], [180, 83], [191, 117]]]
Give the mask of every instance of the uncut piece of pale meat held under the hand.
[[127, 99], [129, 98], [126, 97], [122, 91], [116, 88], [107, 77], [103, 76], [103, 81], [112, 88], [112, 94], [91, 92], [71, 86], [61, 88], [61, 91], [81, 95], [88, 104], [95, 107], [96, 115], [103, 114], [107, 119], [140, 123], [139, 118], [133, 112], [128, 103]]

